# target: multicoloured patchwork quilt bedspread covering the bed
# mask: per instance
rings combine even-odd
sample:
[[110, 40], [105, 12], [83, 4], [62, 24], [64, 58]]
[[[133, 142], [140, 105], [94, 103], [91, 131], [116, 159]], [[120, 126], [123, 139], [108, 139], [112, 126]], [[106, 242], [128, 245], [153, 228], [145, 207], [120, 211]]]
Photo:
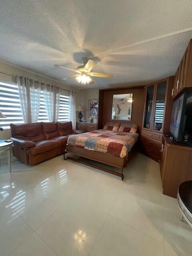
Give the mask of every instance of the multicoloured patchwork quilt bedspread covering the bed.
[[68, 137], [68, 145], [125, 157], [138, 140], [138, 133], [96, 130]]

